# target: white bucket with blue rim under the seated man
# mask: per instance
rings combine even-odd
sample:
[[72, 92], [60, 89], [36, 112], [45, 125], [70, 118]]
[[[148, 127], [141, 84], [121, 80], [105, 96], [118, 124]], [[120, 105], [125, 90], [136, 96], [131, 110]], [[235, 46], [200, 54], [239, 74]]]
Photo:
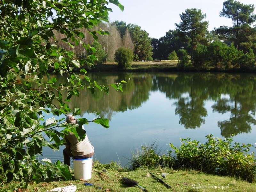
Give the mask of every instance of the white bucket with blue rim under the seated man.
[[92, 157], [87, 159], [74, 159], [75, 180], [88, 180], [92, 178]]

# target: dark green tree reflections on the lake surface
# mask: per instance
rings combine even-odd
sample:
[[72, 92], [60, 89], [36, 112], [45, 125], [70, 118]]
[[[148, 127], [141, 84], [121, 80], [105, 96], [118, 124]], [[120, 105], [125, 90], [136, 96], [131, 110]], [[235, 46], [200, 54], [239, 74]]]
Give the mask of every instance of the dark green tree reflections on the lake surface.
[[[175, 115], [185, 128], [196, 129], [205, 123], [209, 113], [230, 113], [230, 118], [219, 120], [223, 137], [248, 133], [256, 125], [256, 76], [253, 74], [224, 73], [91, 73], [100, 84], [112, 84], [126, 80], [124, 92], [109, 90], [109, 95], [97, 91], [81, 90], [80, 97], [73, 96], [70, 108], [79, 107], [82, 115], [100, 112], [111, 119], [116, 112], [139, 108], [149, 99], [150, 92], [160, 91], [173, 100]], [[58, 76], [65, 82], [65, 76]], [[62, 92], [63, 98], [67, 95]], [[211, 110], [205, 106], [214, 102]], [[57, 102], [55, 103], [58, 104]], [[149, 117], [150, 118], [150, 117]]]

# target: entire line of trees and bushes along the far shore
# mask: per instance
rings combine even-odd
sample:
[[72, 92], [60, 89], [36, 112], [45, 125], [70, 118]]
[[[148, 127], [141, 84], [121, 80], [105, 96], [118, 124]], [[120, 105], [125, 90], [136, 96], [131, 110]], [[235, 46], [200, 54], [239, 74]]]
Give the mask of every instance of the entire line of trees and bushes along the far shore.
[[[101, 22], [92, 29], [80, 30], [85, 36], [81, 41], [92, 47], [89, 51], [78, 42], [78, 38], [68, 38], [61, 31], [54, 31], [54, 34], [59, 40], [58, 46], [65, 50], [73, 50], [74, 57], [79, 59], [91, 54], [95, 55], [98, 60], [94, 63], [98, 65], [106, 61], [119, 62], [118, 53], [122, 53], [129, 58], [129, 62], [131, 58], [135, 61], [179, 60], [180, 67], [192, 64], [198, 69], [250, 68], [255, 65], [256, 54], [256, 26], [251, 27], [256, 20], [253, 11], [252, 4], [226, 0], [223, 2], [220, 16], [231, 19], [233, 25], [220, 26], [208, 31], [206, 14], [196, 8], [186, 9], [180, 14], [181, 20], [180, 23], [176, 23], [176, 28], [167, 31], [165, 36], [159, 39], [150, 38], [149, 34], [138, 25], [117, 20], [110, 24]], [[87, 31], [89, 34], [86, 33]], [[90, 35], [90, 31], [98, 33], [97, 36]], [[109, 35], [102, 35], [102, 31], [108, 31]], [[66, 39], [66, 42], [63, 42], [63, 39]], [[94, 39], [97, 42], [94, 42]], [[72, 49], [70, 44], [77, 46]], [[122, 51], [119, 48], [122, 48]], [[116, 52], [118, 53], [115, 54]], [[133, 52], [132, 57], [131, 52]], [[116, 56], [117, 60], [115, 60]], [[125, 68], [131, 66], [129, 62], [128, 60], [123, 62], [122, 66], [126, 66]]]

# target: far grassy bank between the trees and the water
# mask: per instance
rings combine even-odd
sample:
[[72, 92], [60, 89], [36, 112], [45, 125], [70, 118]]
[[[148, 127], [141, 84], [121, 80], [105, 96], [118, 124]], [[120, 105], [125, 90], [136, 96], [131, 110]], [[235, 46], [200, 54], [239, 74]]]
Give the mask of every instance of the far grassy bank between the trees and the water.
[[[192, 65], [185, 66], [184, 68], [178, 67], [178, 60], [164, 60], [161, 62], [132, 62], [132, 68], [126, 69], [125, 71], [205, 71], [205, 72], [256, 72], [256, 68], [251, 69], [240, 69], [240, 68], [213, 68], [198, 70]], [[102, 65], [96, 65], [88, 71], [124, 71], [118, 68], [117, 63], [108, 62]]]

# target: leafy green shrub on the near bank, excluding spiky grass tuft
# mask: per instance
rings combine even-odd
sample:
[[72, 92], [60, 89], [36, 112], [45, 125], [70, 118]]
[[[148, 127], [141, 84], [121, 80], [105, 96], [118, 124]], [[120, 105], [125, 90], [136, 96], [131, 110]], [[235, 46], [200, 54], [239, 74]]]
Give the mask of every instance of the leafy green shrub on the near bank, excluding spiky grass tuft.
[[[218, 173], [242, 178], [249, 182], [256, 177], [256, 159], [254, 153], [247, 154], [251, 144], [231, 143], [233, 139], [220, 139], [207, 135], [205, 144], [190, 138], [181, 139], [182, 145], [176, 148], [173, 144], [170, 147], [175, 151], [174, 166], [186, 166], [208, 173]], [[169, 153], [171, 156], [171, 154]]]

